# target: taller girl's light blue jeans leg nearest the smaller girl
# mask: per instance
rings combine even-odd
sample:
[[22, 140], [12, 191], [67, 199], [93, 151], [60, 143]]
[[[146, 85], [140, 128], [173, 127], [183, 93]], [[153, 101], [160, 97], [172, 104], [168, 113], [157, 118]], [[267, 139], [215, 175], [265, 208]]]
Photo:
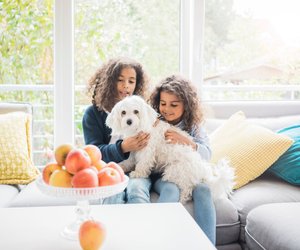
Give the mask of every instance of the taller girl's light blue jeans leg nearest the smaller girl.
[[150, 178], [130, 178], [127, 188], [127, 203], [150, 203]]

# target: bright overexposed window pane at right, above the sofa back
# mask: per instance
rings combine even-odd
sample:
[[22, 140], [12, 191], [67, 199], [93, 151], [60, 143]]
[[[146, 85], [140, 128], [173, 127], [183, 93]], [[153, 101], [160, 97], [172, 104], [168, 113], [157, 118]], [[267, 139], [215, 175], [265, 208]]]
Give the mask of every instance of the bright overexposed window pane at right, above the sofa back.
[[300, 3], [206, 1], [208, 99], [300, 99]]

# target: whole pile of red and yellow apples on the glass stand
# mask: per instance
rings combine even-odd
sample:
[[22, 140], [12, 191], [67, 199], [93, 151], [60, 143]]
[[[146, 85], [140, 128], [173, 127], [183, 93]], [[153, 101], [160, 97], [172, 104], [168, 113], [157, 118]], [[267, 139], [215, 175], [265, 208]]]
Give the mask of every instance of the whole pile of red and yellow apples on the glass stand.
[[55, 161], [42, 170], [45, 183], [55, 187], [90, 188], [121, 183], [123, 169], [115, 162], [105, 163], [98, 147], [76, 148], [62, 144], [54, 150]]

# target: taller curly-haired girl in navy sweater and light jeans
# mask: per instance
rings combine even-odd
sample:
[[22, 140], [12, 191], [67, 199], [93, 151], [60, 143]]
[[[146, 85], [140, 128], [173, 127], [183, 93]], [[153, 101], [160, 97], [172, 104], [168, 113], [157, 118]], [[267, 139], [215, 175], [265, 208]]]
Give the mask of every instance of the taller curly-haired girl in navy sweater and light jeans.
[[[88, 83], [88, 92], [92, 105], [83, 115], [82, 127], [85, 144], [99, 147], [102, 160], [105, 162], [121, 162], [129, 157], [131, 151], [141, 150], [147, 145], [149, 134], [139, 133], [135, 136], [112, 138], [111, 129], [106, 126], [108, 112], [114, 105], [130, 95], [139, 95], [145, 98], [148, 78], [142, 65], [129, 58], [114, 58], [104, 63], [91, 77]], [[139, 192], [144, 188], [149, 189], [149, 180], [130, 180], [128, 186], [132, 187], [129, 199], [139, 201]], [[136, 188], [139, 186], [139, 188]], [[127, 188], [128, 191], [128, 188]], [[148, 197], [146, 197], [148, 199]], [[125, 193], [107, 198], [105, 203], [124, 203]]]

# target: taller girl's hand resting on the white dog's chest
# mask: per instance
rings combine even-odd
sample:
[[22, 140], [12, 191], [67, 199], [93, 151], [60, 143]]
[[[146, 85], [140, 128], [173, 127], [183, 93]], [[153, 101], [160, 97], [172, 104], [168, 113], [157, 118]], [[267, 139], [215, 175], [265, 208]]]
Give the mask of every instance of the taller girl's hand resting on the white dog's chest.
[[137, 135], [127, 137], [123, 140], [121, 148], [123, 153], [139, 151], [146, 147], [150, 138], [149, 133], [139, 132]]

